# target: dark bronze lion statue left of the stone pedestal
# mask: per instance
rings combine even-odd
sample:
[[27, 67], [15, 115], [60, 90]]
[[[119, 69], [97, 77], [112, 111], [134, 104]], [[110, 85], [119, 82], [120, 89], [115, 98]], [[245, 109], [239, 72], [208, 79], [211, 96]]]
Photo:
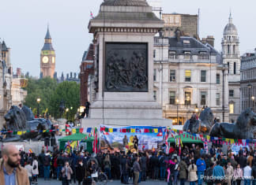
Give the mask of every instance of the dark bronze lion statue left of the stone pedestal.
[[51, 121], [43, 118], [35, 119], [32, 111], [23, 106], [22, 109], [13, 105], [5, 115], [6, 124], [4, 128], [7, 131], [28, 131], [23, 135], [13, 135], [12, 132], [6, 134], [4, 142], [21, 141], [24, 139], [39, 140], [49, 137], [50, 133], [39, 133], [41, 130], [51, 129]]

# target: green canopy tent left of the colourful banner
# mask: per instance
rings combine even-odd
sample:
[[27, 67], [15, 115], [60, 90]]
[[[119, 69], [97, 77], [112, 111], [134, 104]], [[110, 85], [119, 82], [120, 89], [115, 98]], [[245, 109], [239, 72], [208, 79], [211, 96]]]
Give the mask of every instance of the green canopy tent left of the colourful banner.
[[79, 145], [84, 146], [84, 150], [87, 150], [89, 153], [92, 153], [93, 138], [85, 139], [85, 137], [88, 138], [88, 135], [85, 135], [85, 134], [82, 134], [82, 133], [76, 133], [76, 134], [68, 135], [68, 136], [63, 137], [61, 139], [58, 139], [59, 150], [64, 150], [65, 149], [66, 142], [79, 141]]

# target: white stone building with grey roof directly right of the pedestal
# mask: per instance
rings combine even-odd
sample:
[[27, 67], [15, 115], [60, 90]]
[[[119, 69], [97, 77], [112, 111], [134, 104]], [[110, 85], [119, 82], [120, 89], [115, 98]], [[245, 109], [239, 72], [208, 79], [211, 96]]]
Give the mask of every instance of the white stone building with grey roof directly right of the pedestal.
[[217, 120], [229, 120], [228, 68], [213, 46], [177, 30], [175, 37], [155, 37], [153, 59], [153, 97], [163, 117], [180, 125], [208, 106]]

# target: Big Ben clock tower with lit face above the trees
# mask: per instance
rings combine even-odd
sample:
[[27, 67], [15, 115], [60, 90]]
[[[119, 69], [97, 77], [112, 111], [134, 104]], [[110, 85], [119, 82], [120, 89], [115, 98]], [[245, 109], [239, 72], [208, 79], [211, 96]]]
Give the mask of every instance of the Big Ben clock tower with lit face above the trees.
[[43, 77], [51, 76], [53, 78], [55, 74], [55, 50], [51, 45], [49, 27], [47, 28], [43, 49], [40, 54], [40, 72]]

